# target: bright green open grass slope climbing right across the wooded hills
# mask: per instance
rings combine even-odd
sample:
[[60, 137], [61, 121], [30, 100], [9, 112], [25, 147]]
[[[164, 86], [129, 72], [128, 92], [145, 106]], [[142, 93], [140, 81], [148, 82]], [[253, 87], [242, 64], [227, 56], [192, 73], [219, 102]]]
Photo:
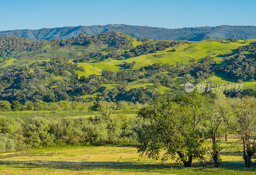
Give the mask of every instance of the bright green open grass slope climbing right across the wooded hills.
[[[134, 42], [134, 41], [133, 41]], [[137, 41], [138, 42], [138, 41]], [[248, 42], [249, 43], [249, 42]], [[247, 44], [248, 44], [247, 43]], [[154, 63], [162, 63], [162, 64], [177, 64], [184, 63], [188, 64], [189, 60], [194, 58], [195, 60], [199, 60], [204, 58], [207, 55], [210, 55], [215, 58], [218, 63], [222, 63], [222, 59], [226, 56], [232, 56], [236, 54], [236, 48], [239, 46], [245, 45], [242, 41], [236, 43], [226, 43], [220, 41], [213, 42], [198, 42], [194, 44], [185, 44], [175, 47], [169, 47], [164, 51], [157, 51], [157, 53], [150, 53], [148, 55], [141, 55], [133, 58], [126, 59], [126, 62], [135, 61], [136, 64], [133, 69], [140, 69], [143, 66], [152, 65]], [[176, 49], [176, 52], [167, 52], [168, 50], [172, 50], [172, 48]], [[157, 58], [152, 55], [164, 54], [162, 58]], [[79, 65], [84, 66], [86, 71], [100, 72], [103, 69], [118, 71], [119, 66], [123, 60], [107, 60], [98, 63], [79, 63]], [[90, 66], [89, 66], [90, 65]], [[90, 72], [91, 73], [91, 72]], [[89, 74], [90, 74], [89, 73]], [[88, 74], [88, 75], [89, 75]]]

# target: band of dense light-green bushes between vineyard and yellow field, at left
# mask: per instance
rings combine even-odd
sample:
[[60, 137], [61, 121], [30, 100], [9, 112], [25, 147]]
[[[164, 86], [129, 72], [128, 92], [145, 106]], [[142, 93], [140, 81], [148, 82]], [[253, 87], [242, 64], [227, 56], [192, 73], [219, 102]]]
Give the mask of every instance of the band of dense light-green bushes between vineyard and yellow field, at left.
[[63, 146], [63, 144], [104, 145], [136, 142], [136, 130], [141, 121], [135, 117], [128, 119], [125, 114], [118, 114], [115, 118], [110, 118], [110, 115], [111, 111], [89, 119], [35, 117], [29, 123], [19, 123], [0, 116], [0, 152], [54, 146], [59, 143]]

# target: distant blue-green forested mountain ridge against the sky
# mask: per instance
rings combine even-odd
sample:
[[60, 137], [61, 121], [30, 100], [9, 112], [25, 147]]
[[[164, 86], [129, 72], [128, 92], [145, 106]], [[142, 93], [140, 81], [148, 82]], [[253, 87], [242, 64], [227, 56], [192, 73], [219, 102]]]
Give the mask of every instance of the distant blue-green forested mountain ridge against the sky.
[[189, 40], [201, 41], [206, 39], [228, 39], [234, 37], [238, 40], [256, 39], [256, 26], [216, 26], [216, 27], [186, 27], [167, 29], [148, 26], [131, 25], [95, 25], [76, 27], [42, 28], [37, 30], [8, 30], [1, 31], [1, 36], [17, 36], [29, 40], [67, 39], [79, 33], [95, 35], [108, 31], [123, 32], [134, 38], [149, 38], [152, 40]]

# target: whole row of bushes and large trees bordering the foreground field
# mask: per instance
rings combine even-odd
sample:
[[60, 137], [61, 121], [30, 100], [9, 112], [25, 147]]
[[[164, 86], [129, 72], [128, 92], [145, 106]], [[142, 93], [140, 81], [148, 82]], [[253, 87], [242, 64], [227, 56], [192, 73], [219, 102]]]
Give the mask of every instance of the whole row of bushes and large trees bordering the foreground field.
[[[111, 110], [89, 119], [46, 116], [35, 117], [28, 123], [0, 117], [0, 151], [67, 144], [136, 143], [138, 152], [149, 158], [163, 162], [171, 158], [183, 162], [185, 167], [192, 166], [194, 160], [212, 161], [218, 167], [221, 136], [228, 141], [229, 135], [235, 134], [243, 144], [240, 153], [245, 166], [250, 167], [256, 158], [255, 97], [228, 98], [222, 92], [159, 95], [148, 106], [141, 107], [137, 117], [129, 119], [125, 114], [112, 118]], [[206, 140], [211, 144], [205, 144]], [[164, 154], [160, 154], [162, 150]]]

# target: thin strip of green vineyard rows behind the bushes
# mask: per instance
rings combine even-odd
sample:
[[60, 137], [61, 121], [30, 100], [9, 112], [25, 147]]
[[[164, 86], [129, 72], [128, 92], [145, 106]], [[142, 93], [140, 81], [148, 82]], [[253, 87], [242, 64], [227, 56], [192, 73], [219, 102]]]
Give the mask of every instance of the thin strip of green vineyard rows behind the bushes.
[[[95, 115], [102, 114], [104, 111], [95, 112], [49, 112], [49, 113], [3, 113], [0, 115], [6, 118], [12, 118], [15, 121], [29, 122], [34, 117], [73, 117], [73, 116], [84, 116], [84, 115]], [[112, 111], [112, 114], [135, 114], [137, 111]]]

